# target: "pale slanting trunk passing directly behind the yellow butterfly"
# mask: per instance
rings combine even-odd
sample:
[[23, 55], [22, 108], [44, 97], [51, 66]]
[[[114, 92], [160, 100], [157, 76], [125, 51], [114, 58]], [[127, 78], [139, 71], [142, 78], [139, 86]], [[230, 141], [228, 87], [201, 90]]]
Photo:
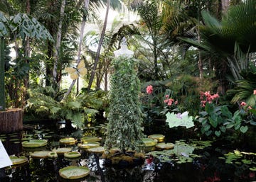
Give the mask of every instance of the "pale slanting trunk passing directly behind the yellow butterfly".
[[[90, 4], [90, 0], [85, 0], [84, 1], [84, 9], [85, 9], [85, 14], [82, 16], [82, 25], [81, 25], [81, 30], [80, 30], [80, 40], [79, 40], [79, 45], [78, 45], [78, 64], [80, 63], [80, 57], [81, 57], [81, 51], [82, 51], [82, 38], [85, 32], [85, 23], [87, 19], [87, 11], [88, 7]], [[68, 91], [64, 94], [63, 100], [67, 98], [68, 94], [70, 93], [71, 89], [73, 88], [76, 80], [73, 80], [72, 83], [70, 84], [70, 87]], [[78, 93], [78, 90], [77, 90]]]

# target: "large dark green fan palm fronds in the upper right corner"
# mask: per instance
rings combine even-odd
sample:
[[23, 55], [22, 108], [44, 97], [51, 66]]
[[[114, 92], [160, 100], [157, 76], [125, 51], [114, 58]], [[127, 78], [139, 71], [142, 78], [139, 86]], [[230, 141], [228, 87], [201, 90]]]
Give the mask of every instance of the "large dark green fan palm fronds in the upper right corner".
[[[201, 42], [188, 40], [201, 50], [210, 55], [214, 63], [217, 75], [223, 82], [222, 91], [228, 89], [226, 76], [230, 72], [233, 79], [241, 79], [240, 72], [248, 68], [249, 59], [247, 53], [255, 52], [255, 1], [247, 0], [238, 6], [230, 6], [221, 21], [207, 11], [203, 11], [203, 22], [200, 26]], [[234, 53], [235, 52], [235, 53]]]

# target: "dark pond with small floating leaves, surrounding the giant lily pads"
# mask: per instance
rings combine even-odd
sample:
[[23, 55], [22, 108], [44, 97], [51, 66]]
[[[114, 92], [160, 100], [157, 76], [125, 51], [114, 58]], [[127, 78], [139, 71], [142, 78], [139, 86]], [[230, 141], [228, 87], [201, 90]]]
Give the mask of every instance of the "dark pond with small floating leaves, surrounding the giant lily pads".
[[[17, 181], [256, 181], [256, 154], [253, 151], [233, 149], [223, 142], [176, 140], [168, 138], [164, 142], [175, 144], [174, 149], [147, 149], [145, 160], [137, 166], [108, 166], [101, 154], [87, 152], [78, 147], [81, 137], [101, 136], [104, 125], [87, 127], [83, 130], [65, 130], [63, 123], [58, 125], [29, 125], [22, 132], [1, 134], [0, 139], [10, 156], [24, 156], [28, 161], [5, 169], [0, 169], [1, 182]], [[75, 144], [62, 144], [60, 139], [73, 137], [78, 139]], [[44, 147], [24, 148], [22, 142], [31, 139], [45, 139]], [[166, 141], [168, 140], [168, 141]], [[103, 140], [100, 141], [102, 145]], [[32, 157], [38, 150], [70, 147], [80, 152], [78, 158]], [[65, 166], [87, 166], [90, 174], [83, 178], [67, 180], [60, 176], [59, 170]]]

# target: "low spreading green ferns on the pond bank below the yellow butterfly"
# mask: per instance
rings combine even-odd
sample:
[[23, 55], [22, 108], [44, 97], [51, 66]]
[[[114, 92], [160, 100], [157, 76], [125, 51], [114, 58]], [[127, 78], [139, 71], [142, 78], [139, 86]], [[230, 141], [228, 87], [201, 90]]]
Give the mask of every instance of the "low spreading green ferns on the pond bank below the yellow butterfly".
[[63, 93], [55, 93], [51, 88], [30, 91], [26, 112], [29, 113], [31, 112], [29, 110], [34, 110], [38, 115], [48, 115], [54, 120], [72, 122], [80, 128], [85, 125], [87, 114], [96, 115], [103, 106], [106, 106], [104, 94], [80, 94], [75, 97], [69, 96], [61, 101]]

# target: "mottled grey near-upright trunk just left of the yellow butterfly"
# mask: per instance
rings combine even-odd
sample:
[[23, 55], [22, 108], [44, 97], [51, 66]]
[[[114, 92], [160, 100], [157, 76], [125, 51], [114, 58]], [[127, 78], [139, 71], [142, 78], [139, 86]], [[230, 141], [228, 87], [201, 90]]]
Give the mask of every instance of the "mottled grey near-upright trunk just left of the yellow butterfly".
[[58, 62], [59, 62], [59, 56], [60, 56], [60, 42], [61, 42], [61, 32], [62, 32], [64, 11], [65, 11], [65, 0], [61, 2], [61, 7], [60, 7], [60, 22], [58, 25], [58, 32], [57, 32], [55, 52], [54, 52], [55, 60], [53, 64], [53, 84], [54, 86], [57, 86], [58, 89], [59, 89], [59, 83], [57, 80], [57, 69], [58, 69]]

